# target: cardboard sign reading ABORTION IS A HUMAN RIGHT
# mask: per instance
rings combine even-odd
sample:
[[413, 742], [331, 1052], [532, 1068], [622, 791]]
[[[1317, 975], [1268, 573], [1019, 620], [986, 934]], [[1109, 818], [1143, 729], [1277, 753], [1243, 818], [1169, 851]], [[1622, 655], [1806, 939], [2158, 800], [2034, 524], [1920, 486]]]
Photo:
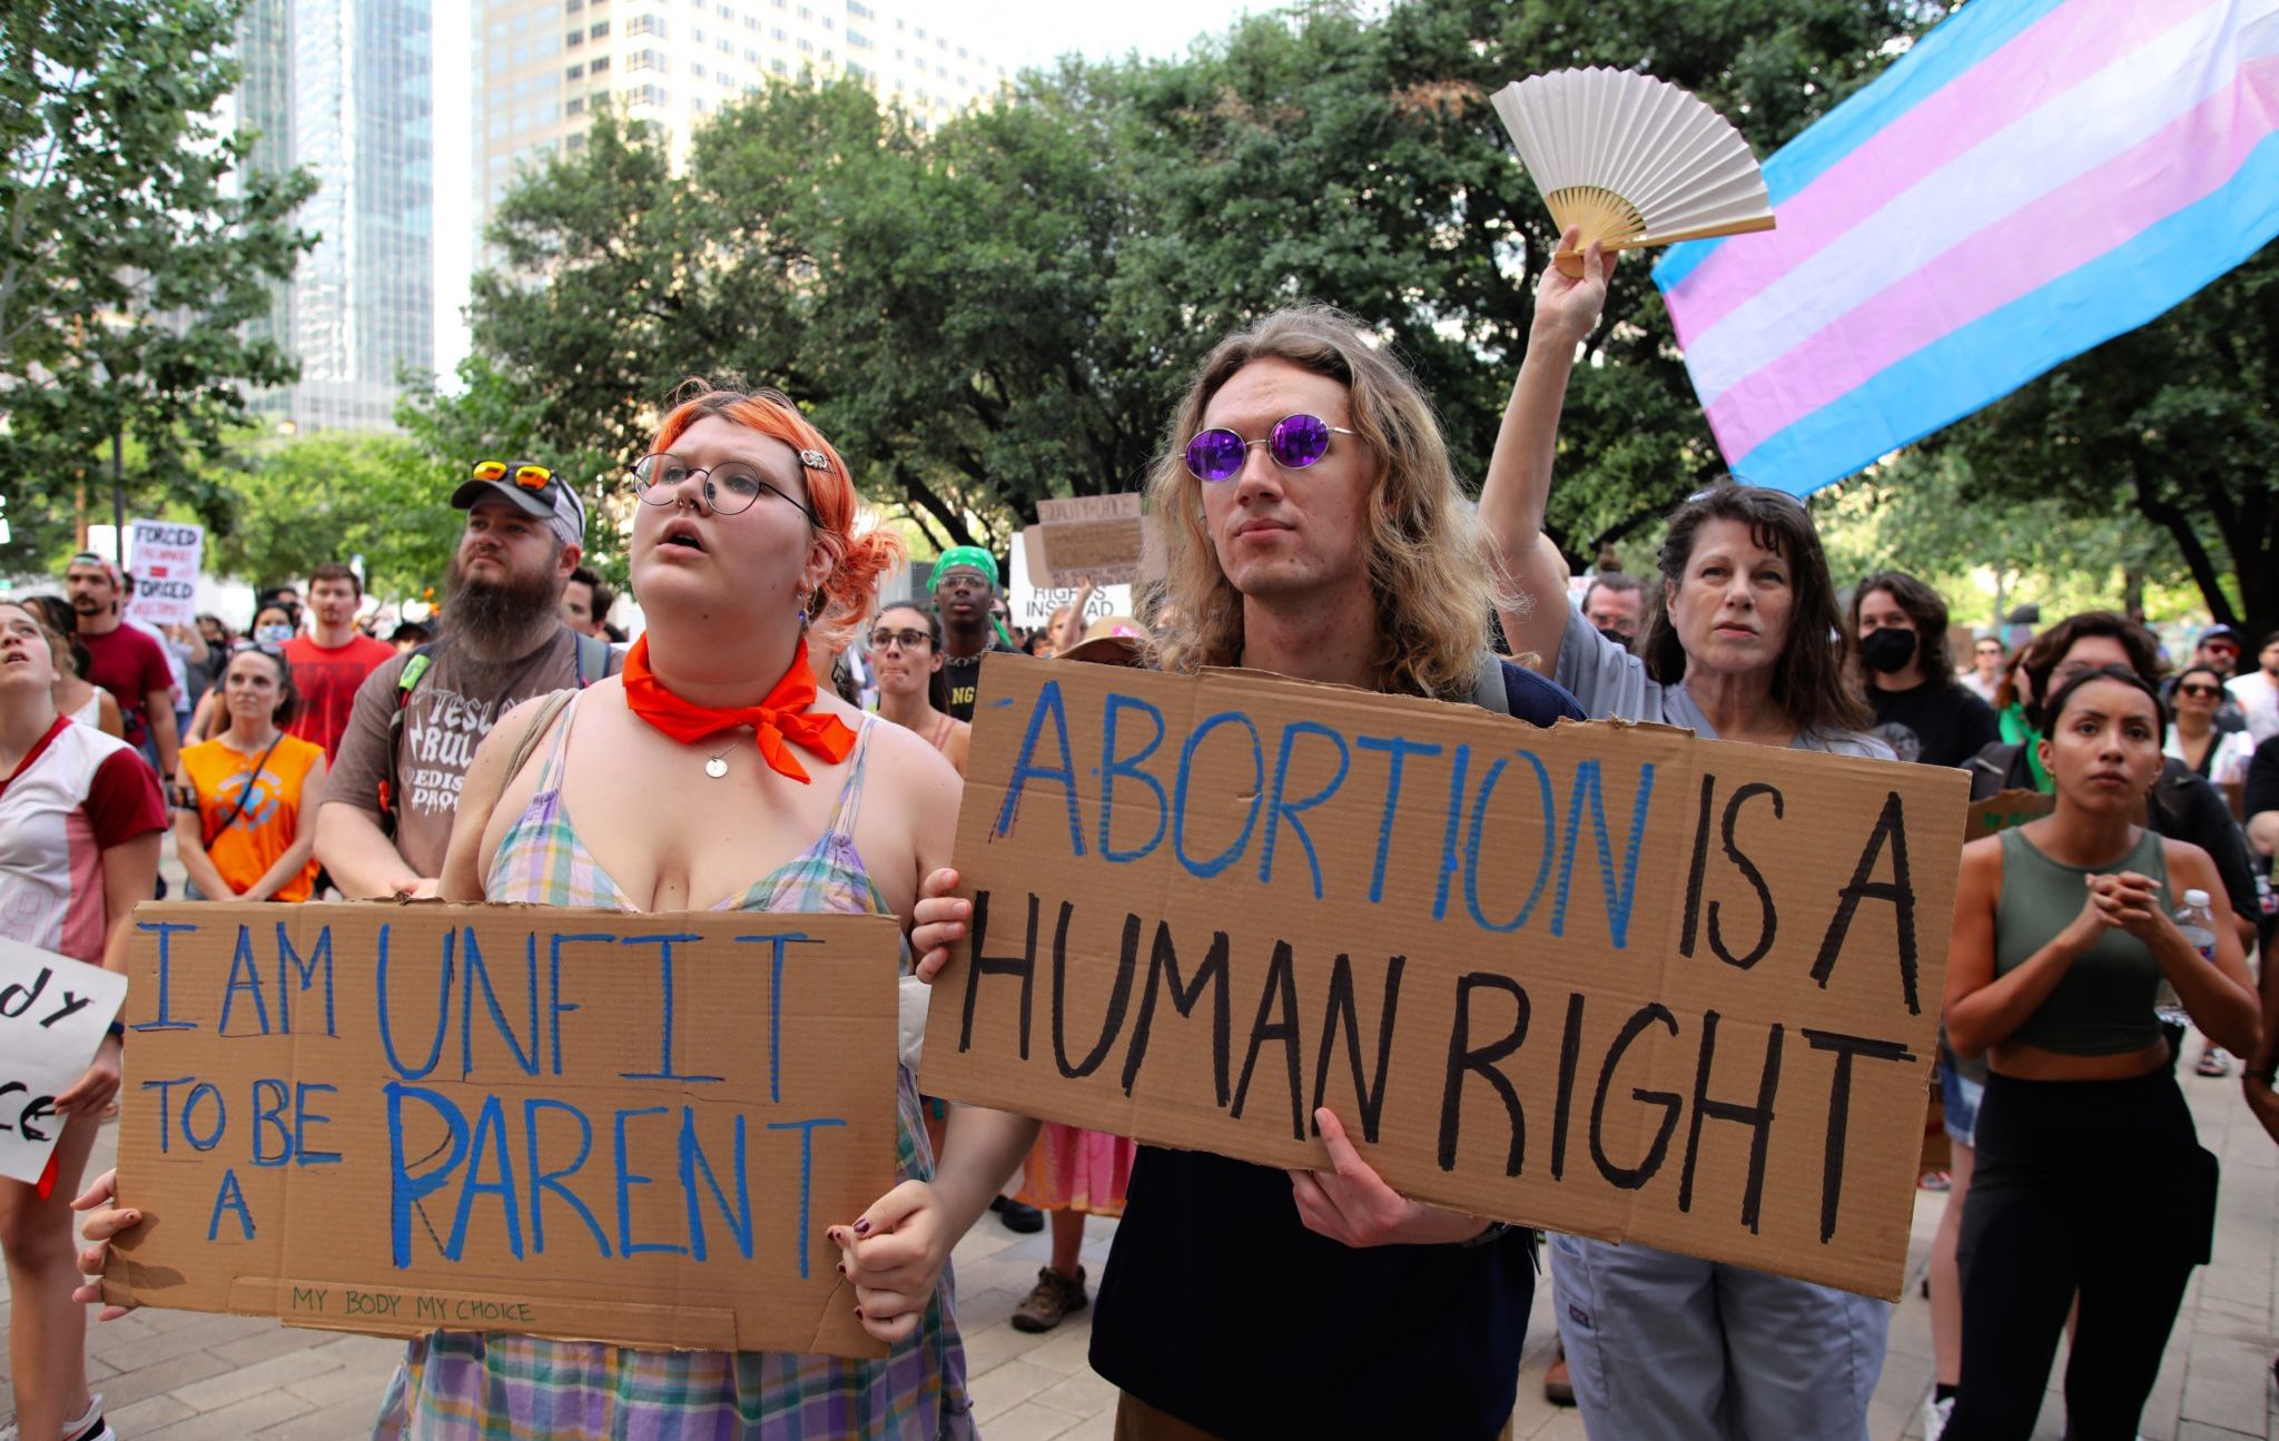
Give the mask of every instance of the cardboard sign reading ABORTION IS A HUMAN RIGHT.
[[1967, 784], [994, 654], [923, 1088], [1896, 1297]]

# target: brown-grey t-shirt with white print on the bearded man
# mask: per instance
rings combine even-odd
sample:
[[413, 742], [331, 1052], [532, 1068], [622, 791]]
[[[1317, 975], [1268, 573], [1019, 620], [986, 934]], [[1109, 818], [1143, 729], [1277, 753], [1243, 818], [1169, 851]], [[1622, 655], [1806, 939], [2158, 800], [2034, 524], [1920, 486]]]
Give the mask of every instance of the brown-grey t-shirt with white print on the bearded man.
[[[365, 677], [340, 741], [340, 759], [326, 784], [326, 803], [344, 800], [381, 819], [381, 782], [387, 778], [387, 716], [397, 709], [397, 677], [410, 654], [392, 657]], [[419, 876], [442, 876], [451, 844], [451, 816], [467, 782], [467, 762], [499, 716], [531, 695], [563, 691], [577, 682], [577, 634], [558, 625], [545, 645], [517, 661], [474, 661], [444, 632], [428, 648], [428, 670], [410, 693], [403, 714], [403, 750], [397, 757], [397, 850]]]

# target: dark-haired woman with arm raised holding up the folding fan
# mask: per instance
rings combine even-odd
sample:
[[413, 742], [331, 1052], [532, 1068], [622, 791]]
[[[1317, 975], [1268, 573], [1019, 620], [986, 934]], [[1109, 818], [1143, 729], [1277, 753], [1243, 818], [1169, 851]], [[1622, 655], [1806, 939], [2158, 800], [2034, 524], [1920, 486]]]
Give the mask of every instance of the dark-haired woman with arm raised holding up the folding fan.
[[[1575, 244], [1573, 233], [1563, 239]], [[1559, 408], [1575, 349], [1598, 321], [1614, 260], [1582, 278], [1543, 271], [1527, 360], [1504, 413], [1479, 511], [1509, 584], [1504, 609], [1591, 718], [1659, 720], [1700, 736], [1892, 759], [1846, 682], [1835, 581], [1812, 515], [1789, 495], [1718, 481], [1671, 515], [1643, 654], [1566, 604], [1568, 565], [1543, 534]], [[1595, 1441], [1867, 1436], [1892, 1306], [1648, 1245], [1552, 1238], [1559, 1336]]]

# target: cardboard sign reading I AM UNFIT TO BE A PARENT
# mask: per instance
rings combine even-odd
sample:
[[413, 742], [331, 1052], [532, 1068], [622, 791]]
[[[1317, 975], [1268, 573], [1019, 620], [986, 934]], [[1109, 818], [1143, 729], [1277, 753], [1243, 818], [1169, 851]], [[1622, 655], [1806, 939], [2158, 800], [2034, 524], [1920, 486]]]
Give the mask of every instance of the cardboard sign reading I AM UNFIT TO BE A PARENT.
[[139, 905], [105, 1300], [882, 1357], [891, 917]]

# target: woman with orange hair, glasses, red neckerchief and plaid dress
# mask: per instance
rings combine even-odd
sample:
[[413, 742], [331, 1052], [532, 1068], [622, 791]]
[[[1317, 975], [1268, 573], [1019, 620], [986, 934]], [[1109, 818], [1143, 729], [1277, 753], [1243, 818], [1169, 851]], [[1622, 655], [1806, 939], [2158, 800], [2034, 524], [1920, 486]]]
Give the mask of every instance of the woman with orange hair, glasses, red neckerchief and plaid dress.
[[[864, 618], [896, 540], [855, 534], [846, 463], [779, 392], [684, 399], [654, 451], [634, 470], [629, 556], [647, 634], [622, 677], [499, 720], [467, 773], [444, 898], [907, 917], [948, 864], [957, 773], [818, 693], [807, 666], [809, 629]], [[510, 775], [533, 727], [542, 759]], [[877, 771], [893, 782], [866, 787]], [[606, 1436], [969, 1434], [948, 1254], [1035, 1122], [962, 1108], [934, 1174], [907, 1067], [896, 1120], [900, 1183], [832, 1227], [884, 1361], [435, 1334], [410, 1345], [381, 1434], [536, 1439], [563, 1416]]]

